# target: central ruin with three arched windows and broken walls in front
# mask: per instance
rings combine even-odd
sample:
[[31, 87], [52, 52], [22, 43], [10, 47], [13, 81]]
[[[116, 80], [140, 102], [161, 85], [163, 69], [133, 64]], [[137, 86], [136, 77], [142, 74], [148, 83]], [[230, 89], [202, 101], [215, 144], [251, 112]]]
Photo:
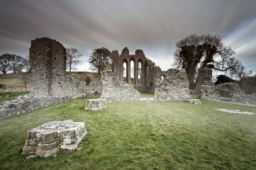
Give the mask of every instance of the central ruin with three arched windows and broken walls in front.
[[[127, 47], [123, 49], [121, 55], [118, 51], [112, 51], [111, 59], [112, 67], [107, 66], [102, 75], [101, 98], [106, 99], [107, 102], [139, 100], [140, 92], [155, 94], [155, 99], [152, 101], [184, 101], [191, 98], [187, 74], [184, 70], [162, 71], [160, 67], [155, 66], [154, 62], [145, 57], [142, 50], [129, 54]], [[133, 79], [131, 61], [134, 63]], [[123, 75], [124, 63], [126, 63], [126, 76]]]

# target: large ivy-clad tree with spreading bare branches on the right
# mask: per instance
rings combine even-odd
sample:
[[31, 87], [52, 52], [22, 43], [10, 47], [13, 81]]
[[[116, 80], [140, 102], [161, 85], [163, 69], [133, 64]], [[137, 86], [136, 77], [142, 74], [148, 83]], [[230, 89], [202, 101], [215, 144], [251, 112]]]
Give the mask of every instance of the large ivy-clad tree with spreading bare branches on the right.
[[238, 65], [235, 52], [222, 43], [223, 36], [191, 34], [176, 42], [173, 66], [186, 70], [192, 86], [200, 67], [210, 65], [218, 71], [229, 71]]

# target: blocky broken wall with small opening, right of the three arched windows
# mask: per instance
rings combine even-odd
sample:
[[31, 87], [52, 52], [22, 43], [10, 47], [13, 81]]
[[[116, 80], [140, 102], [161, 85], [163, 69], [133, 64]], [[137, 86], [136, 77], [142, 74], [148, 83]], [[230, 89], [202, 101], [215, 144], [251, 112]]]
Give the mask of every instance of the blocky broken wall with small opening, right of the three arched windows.
[[190, 99], [189, 83], [184, 69], [169, 69], [155, 73], [155, 99], [164, 101], [184, 101]]

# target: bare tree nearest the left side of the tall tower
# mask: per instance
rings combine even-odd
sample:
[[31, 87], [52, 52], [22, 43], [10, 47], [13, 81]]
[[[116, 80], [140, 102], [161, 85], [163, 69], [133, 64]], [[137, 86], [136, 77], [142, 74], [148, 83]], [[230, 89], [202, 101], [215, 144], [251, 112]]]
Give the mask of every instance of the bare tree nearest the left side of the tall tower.
[[10, 58], [10, 70], [13, 71], [13, 73], [21, 73], [22, 69], [25, 67], [25, 65], [28, 63], [28, 60], [18, 56], [18, 55], [11, 55]]

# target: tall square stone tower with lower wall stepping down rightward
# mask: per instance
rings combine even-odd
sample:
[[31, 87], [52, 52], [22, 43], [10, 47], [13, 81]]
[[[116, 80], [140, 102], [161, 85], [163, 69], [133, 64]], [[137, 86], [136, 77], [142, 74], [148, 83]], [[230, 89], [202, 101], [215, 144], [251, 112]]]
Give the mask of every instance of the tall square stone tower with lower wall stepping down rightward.
[[44, 37], [31, 41], [30, 93], [39, 96], [77, 96], [85, 82], [76, 75], [66, 75], [66, 48], [56, 40]]

